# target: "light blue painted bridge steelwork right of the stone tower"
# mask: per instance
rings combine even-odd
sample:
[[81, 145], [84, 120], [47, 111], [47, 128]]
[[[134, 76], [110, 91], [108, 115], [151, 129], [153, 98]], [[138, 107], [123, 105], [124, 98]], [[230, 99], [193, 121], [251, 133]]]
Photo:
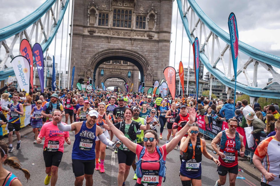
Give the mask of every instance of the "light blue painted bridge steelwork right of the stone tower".
[[[194, 0], [187, 0], [189, 2], [189, 5], [191, 8], [195, 11], [196, 15], [201, 19], [201, 21], [219, 38], [221, 38], [224, 42], [230, 45], [230, 38], [229, 34], [225, 32], [223, 29], [221, 29], [217, 24], [215, 24], [198, 6], [198, 4]], [[179, 13], [183, 22], [183, 26], [185, 28], [185, 31], [187, 33], [187, 36], [189, 38], [189, 41], [191, 43], [194, 42], [195, 36], [191, 35], [189, 31], [189, 22], [187, 17], [183, 15], [183, 8], [181, 0], [177, 0]], [[248, 44], [245, 44], [244, 42], [241, 42], [239, 40], [239, 51], [243, 52], [244, 54], [247, 54], [251, 58], [264, 62], [268, 65], [275, 66], [277, 68], [280, 68], [280, 57], [274, 56], [272, 54], [268, 54], [266, 52], [263, 52], [261, 50], [258, 50]], [[219, 79], [224, 85], [231, 87], [234, 89], [235, 82], [231, 81], [231, 79], [225, 77], [225, 75], [217, 68], [213, 68], [211, 64], [209, 63], [209, 59], [207, 56], [200, 52], [200, 60], [203, 62], [204, 66], [207, 68], [207, 70], [213, 74], [217, 79]], [[250, 95], [252, 97], [267, 97], [267, 98], [276, 98], [280, 99], [280, 92], [276, 90], [266, 90], [256, 87], [249, 87], [248, 85], [238, 83], [236, 85], [236, 90], [241, 91], [242, 93], [245, 93], [247, 95]]]

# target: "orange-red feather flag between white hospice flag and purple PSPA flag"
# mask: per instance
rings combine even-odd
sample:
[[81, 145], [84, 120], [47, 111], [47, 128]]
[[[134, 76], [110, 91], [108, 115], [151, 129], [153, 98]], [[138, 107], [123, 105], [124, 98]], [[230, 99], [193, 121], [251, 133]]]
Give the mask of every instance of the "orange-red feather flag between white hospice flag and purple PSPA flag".
[[26, 57], [29, 61], [30, 65], [30, 85], [33, 89], [33, 55], [32, 55], [32, 49], [27, 39], [23, 39], [20, 42], [20, 53], [22, 56]]

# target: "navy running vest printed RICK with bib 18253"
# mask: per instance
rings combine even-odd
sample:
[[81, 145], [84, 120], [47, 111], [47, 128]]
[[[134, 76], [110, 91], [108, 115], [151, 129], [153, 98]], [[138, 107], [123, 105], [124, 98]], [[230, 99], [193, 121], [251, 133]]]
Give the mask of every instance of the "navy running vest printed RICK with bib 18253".
[[75, 134], [75, 141], [72, 150], [74, 160], [94, 160], [96, 124], [92, 128], [87, 128], [86, 121], [83, 121], [81, 130]]

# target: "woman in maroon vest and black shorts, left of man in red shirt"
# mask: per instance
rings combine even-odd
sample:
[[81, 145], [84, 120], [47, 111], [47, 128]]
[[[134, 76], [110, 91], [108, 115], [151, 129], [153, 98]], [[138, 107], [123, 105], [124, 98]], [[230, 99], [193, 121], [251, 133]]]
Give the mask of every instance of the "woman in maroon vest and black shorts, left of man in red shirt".
[[[173, 126], [173, 123], [174, 123], [177, 115], [178, 115], [178, 110], [176, 109], [176, 103], [173, 102], [171, 104], [171, 109], [169, 109], [165, 115], [165, 118], [167, 118], [167, 130], [168, 130], [166, 143], [169, 142], [171, 133], [173, 133], [175, 135], [175, 133], [177, 131], [176, 129], [173, 129], [173, 131], [172, 131], [172, 126]], [[173, 135], [172, 135], [172, 137], [173, 137]]]

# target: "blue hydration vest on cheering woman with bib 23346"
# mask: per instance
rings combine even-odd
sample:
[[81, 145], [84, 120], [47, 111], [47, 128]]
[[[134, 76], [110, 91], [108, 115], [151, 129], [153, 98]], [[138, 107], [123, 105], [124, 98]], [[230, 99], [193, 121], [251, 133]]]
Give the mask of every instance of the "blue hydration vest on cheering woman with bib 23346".
[[[165, 172], [166, 172], [165, 163], [166, 163], [166, 161], [163, 160], [163, 155], [161, 154], [161, 151], [159, 150], [159, 148], [161, 148], [162, 152], [163, 152], [162, 147], [156, 146], [157, 153], [159, 153], [159, 176], [163, 177], [164, 178], [163, 182], [165, 182]], [[144, 154], [145, 154], [145, 149], [146, 149], [146, 147], [143, 147], [143, 149], [141, 150], [140, 156], [139, 156], [139, 160], [138, 160], [138, 162], [135, 163], [136, 164], [136, 175], [139, 178], [143, 177], [143, 172], [142, 172], [142, 169], [141, 169], [141, 163], [142, 162], [143, 163], [145, 163], [145, 162], [157, 162], [157, 160], [144, 161], [142, 159]]]

